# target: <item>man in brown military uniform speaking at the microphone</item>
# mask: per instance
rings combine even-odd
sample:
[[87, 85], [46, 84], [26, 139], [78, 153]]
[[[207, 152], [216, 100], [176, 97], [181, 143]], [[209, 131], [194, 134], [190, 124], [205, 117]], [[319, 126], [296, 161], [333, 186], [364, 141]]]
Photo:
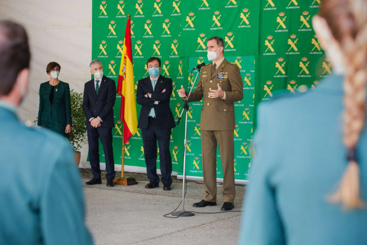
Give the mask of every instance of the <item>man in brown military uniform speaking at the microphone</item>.
[[[224, 42], [217, 36], [207, 42], [208, 59], [213, 63], [203, 67], [198, 85], [188, 101], [200, 101], [202, 170], [205, 194], [194, 207], [217, 205], [217, 143], [223, 168], [223, 206], [221, 210], [234, 208], [234, 102], [243, 97], [242, 78], [239, 69], [223, 55]], [[184, 87], [177, 90], [186, 98]]]

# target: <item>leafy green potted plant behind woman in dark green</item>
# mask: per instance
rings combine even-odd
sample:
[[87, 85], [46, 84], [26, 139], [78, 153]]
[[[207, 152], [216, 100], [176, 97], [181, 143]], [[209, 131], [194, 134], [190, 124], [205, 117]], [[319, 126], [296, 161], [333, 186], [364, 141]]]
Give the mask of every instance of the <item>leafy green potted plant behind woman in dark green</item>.
[[69, 140], [75, 150], [75, 163], [79, 165], [80, 149], [86, 143], [86, 124], [83, 111], [83, 93], [70, 90], [71, 132]]

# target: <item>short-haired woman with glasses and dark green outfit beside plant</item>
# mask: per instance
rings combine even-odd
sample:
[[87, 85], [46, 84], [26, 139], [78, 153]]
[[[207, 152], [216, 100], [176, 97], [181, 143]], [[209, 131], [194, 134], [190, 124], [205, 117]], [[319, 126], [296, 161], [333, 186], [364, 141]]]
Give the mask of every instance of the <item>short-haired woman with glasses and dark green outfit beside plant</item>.
[[61, 66], [50, 62], [46, 67], [50, 81], [39, 87], [38, 126], [68, 138], [71, 131], [70, 88], [58, 79]]

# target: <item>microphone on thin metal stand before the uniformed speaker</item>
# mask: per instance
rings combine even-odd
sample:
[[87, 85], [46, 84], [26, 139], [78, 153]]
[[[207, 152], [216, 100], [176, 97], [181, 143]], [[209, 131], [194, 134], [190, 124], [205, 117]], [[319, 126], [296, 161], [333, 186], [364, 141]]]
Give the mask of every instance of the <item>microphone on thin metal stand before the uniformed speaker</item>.
[[[195, 69], [193, 69], [195, 70]], [[190, 211], [185, 211], [185, 186], [186, 186], [186, 183], [185, 183], [185, 180], [186, 180], [186, 144], [187, 144], [187, 111], [188, 111], [188, 98], [191, 94], [191, 91], [192, 91], [192, 88], [194, 88], [194, 85], [196, 83], [196, 80], [198, 79], [198, 76], [200, 74], [200, 70], [201, 70], [201, 67], [199, 68], [198, 70], [198, 73], [196, 74], [196, 77], [195, 77], [195, 80], [194, 80], [194, 83], [192, 84], [191, 86], [191, 89], [185, 99], [185, 102], [184, 102], [184, 107], [182, 108], [182, 111], [181, 111], [181, 114], [180, 114], [180, 117], [179, 119], [177, 120], [177, 125], [180, 123], [181, 121], [181, 116], [182, 116], [182, 113], [185, 111], [185, 138], [184, 138], [184, 177], [183, 177], [183, 180], [182, 180], [182, 209], [181, 211], [175, 211], [172, 213], [173, 216], [177, 216], [177, 217], [189, 217], [189, 216], [194, 216], [195, 214], [193, 212], [190, 212]]]

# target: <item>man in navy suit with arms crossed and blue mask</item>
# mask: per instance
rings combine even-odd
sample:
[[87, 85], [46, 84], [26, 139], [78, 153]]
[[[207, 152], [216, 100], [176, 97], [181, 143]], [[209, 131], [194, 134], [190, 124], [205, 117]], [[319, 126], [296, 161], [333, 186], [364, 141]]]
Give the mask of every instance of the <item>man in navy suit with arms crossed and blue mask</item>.
[[144, 157], [147, 164], [147, 175], [150, 179], [145, 188], [158, 187], [157, 175], [157, 141], [163, 190], [171, 190], [172, 160], [169, 151], [171, 130], [176, 126], [169, 99], [172, 94], [172, 79], [161, 76], [161, 60], [151, 57], [147, 61], [149, 77], [138, 82], [136, 101], [142, 105], [138, 128], [142, 130]]

